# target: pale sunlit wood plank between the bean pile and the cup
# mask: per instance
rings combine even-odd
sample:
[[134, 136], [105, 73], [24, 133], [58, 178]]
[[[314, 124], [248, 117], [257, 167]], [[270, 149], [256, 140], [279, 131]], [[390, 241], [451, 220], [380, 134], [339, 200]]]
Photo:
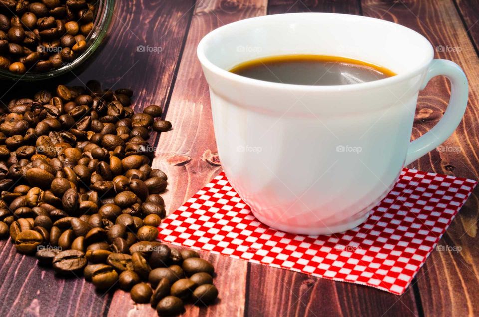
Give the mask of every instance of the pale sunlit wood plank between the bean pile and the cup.
[[[265, 13], [266, 0], [198, 1], [195, 7], [166, 114], [166, 119], [173, 123], [173, 130], [161, 135], [153, 161], [153, 166], [164, 170], [169, 183], [174, 184], [163, 195], [168, 211], [176, 210], [219, 172], [218, 166], [201, 160], [203, 152], [206, 149], [215, 152], [216, 145], [208, 86], [196, 57], [198, 42], [221, 25]], [[187, 155], [191, 161], [182, 166], [166, 163], [166, 159], [175, 154]], [[242, 316], [247, 263], [217, 255], [209, 255], [209, 258], [217, 265], [215, 284], [220, 290], [220, 302], [209, 308], [187, 306], [186, 315]], [[119, 312], [151, 314], [147, 305], [134, 305], [122, 293], [118, 294], [112, 306], [121, 307], [121, 310], [111, 310], [110, 316], [117, 316]]]

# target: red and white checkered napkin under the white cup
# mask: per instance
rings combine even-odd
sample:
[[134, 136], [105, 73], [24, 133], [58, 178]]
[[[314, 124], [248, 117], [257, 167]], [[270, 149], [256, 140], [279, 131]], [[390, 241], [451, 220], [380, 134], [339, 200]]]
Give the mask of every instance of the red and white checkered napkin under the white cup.
[[361, 226], [305, 236], [252, 215], [221, 173], [161, 225], [165, 242], [402, 294], [477, 182], [404, 169]]

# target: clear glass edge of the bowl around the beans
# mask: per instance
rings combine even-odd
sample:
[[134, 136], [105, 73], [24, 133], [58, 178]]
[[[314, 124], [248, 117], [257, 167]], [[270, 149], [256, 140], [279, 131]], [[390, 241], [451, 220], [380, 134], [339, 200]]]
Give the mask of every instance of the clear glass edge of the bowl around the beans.
[[115, 7], [115, 0], [99, 0], [97, 3], [98, 7], [96, 9], [97, 11], [93, 21], [93, 29], [86, 37], [88, 48], [74, 61], [59, 68], [42, 73], [26, 72], [24, 74], [15, 74], [9, 70], [0, 69], [0, 79], [9, 79], [15, 81], [36, 81], [49, 79], [69, 72], [87, 60], [88, 57], [90, 57], [96, 51], [96, 49], [105, 39], [105, 36], [108, 34], [108, 29], [113, 16], [113, 9]]

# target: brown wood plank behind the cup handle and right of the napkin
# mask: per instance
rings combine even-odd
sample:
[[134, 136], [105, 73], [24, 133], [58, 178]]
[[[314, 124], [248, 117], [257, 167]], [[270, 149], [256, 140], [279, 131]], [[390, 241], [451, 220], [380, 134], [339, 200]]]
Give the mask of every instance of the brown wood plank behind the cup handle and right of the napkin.
[[[362, 2], [364, 15], [382, 17], [413, 28], [437, 49], [436, 58], [458, 63], [470, 84], [469, 104], [462, 123], [444, 144], [410, 167], [424, 171], [478, 179], [479, 159], [478, 57], [452, 1]], [[413, 139], [430, 130], [440, 119], [449, 99], [445, 78], [434, 78], [420, 93]], [[477, 237], [478, 194], [476, 188], [451, 227], [417, 275], [426, 316], [467, 316], [479, 312], [479, 250]]]

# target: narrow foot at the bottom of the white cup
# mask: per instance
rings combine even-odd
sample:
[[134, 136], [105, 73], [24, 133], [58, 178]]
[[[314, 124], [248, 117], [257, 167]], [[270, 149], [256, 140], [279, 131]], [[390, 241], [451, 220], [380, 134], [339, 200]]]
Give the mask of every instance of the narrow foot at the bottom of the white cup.
[[265, 225], [273, 229], [281, 230], [281, 231], [285, 231], [289, 233], [294, 233], [294, 234], [304, 234], [304, 235], [320, 235], [320, 234], [328, 235], [333, 233], [344, 232], [344, 231], [356, 228], [357, 226], [365, 222], [368, 219], [370, 214], [370, 211], [368, 211], [361, 218], [355, 219], [354, 221], [344, 223], [338, 226], [330, 226], [330, 227], [324, 227], [324, 228], [301, 228], [301, 227], [274, 223], [270, 221], [269, 219], [265, 219], [261, 215], [256, 214], [254, 210], [251, 210], [251, 211], [253, 215], [256, 217], [256, 219], [258, 219], [259, 221], [261, 221], [262, 223], [264, 223]]

